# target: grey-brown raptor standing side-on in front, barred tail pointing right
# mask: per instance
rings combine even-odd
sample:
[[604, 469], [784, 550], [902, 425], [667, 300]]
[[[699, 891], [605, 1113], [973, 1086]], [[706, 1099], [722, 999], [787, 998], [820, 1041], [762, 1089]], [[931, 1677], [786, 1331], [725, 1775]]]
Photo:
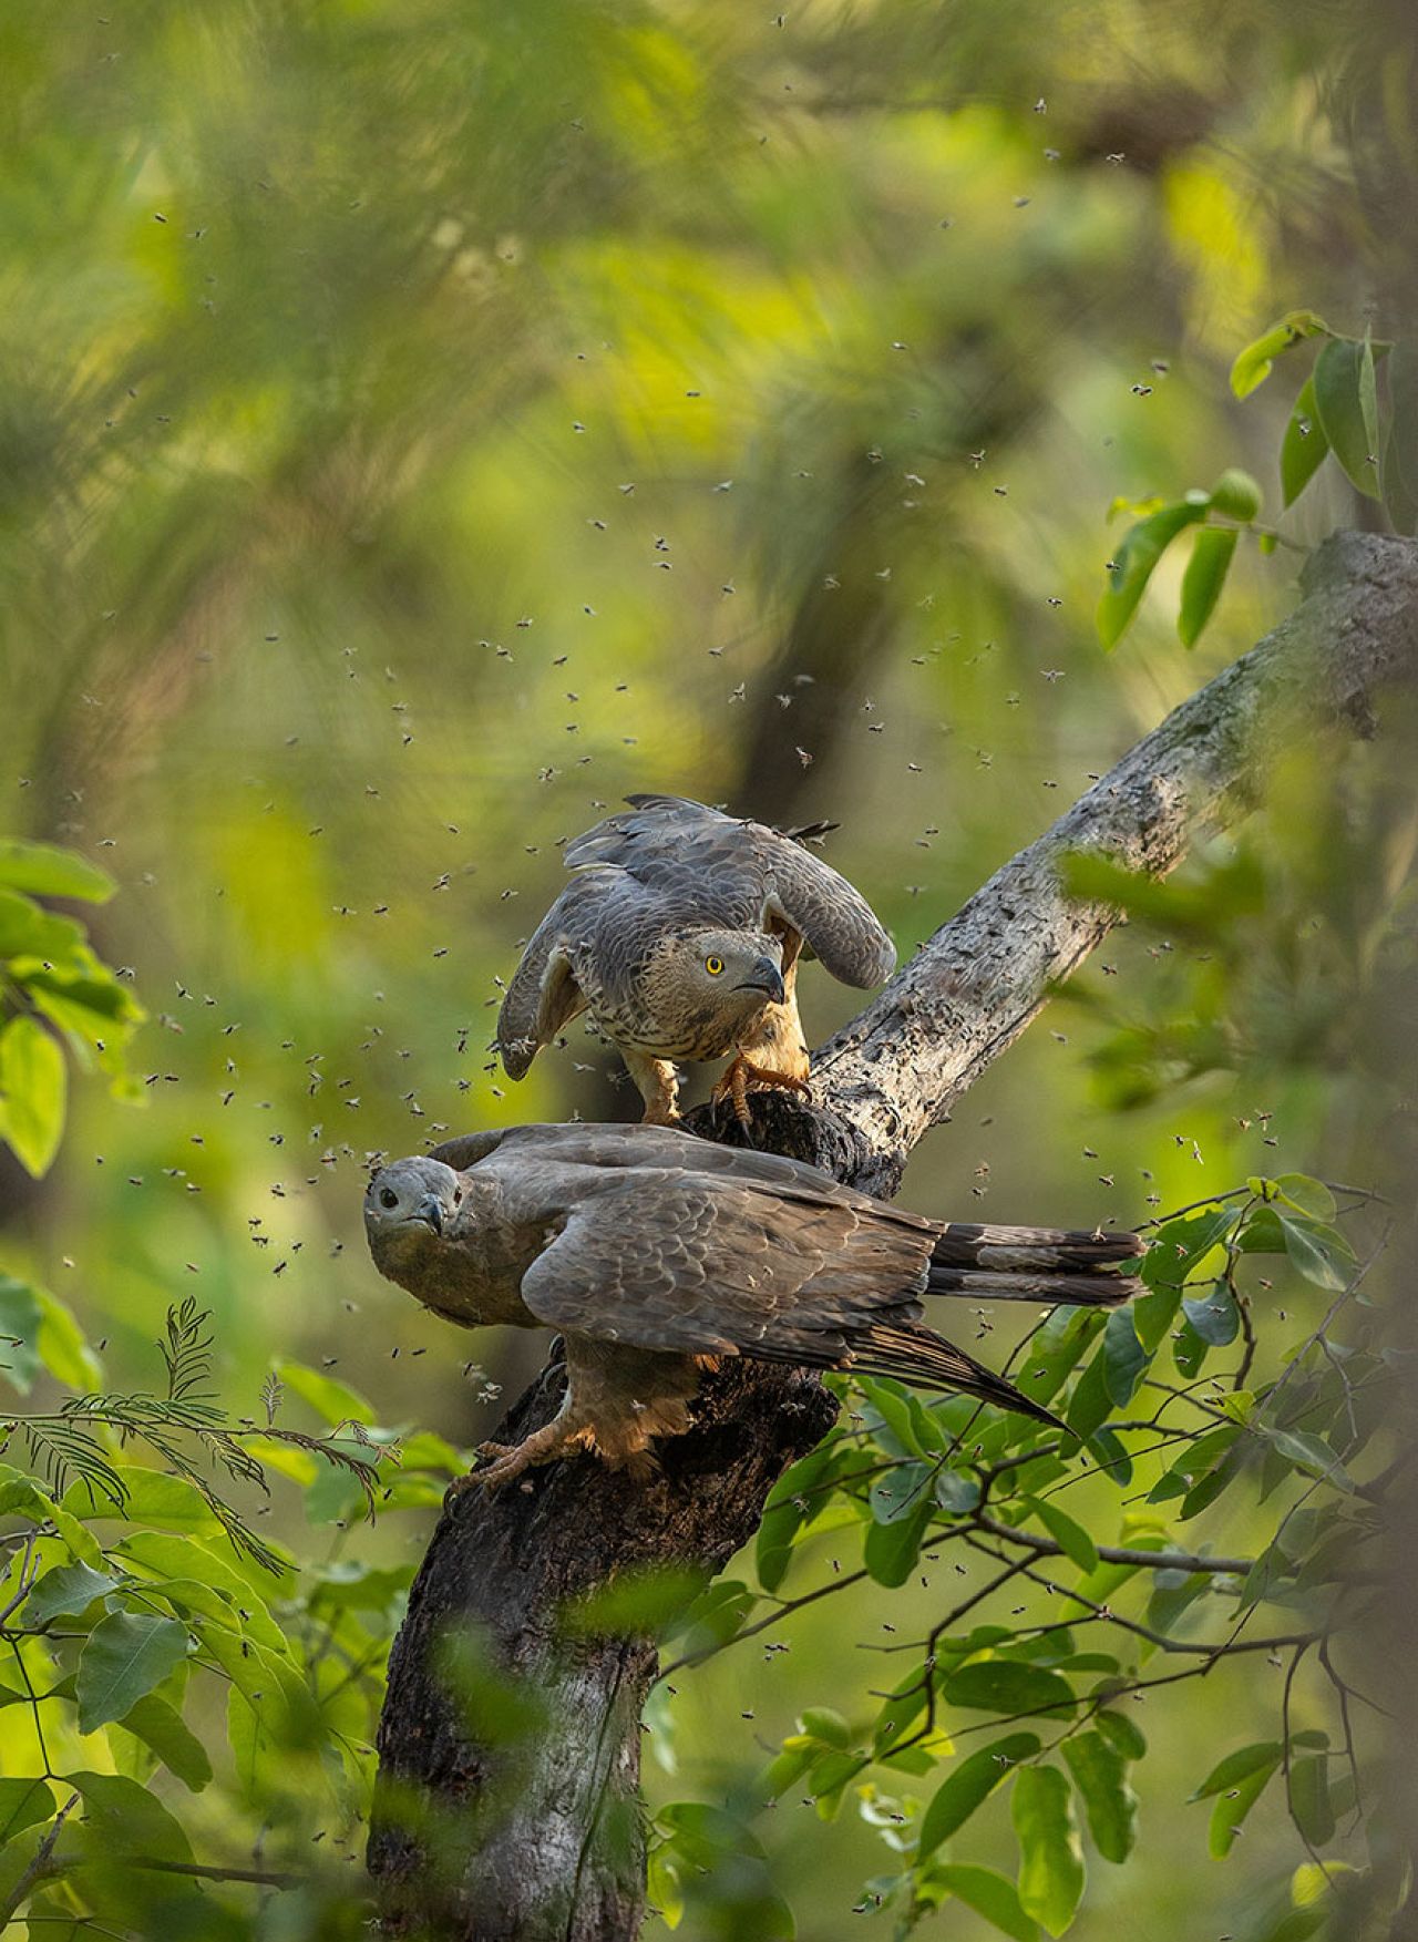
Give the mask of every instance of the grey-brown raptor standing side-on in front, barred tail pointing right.
[[556, 1328], [557, 1416], [478, 1480], [583, 1445], [645, 1468], [690, 1427], [723, 1356], [894, 1375], [1055, 1423], [921, 1323], [923, 1295], [1113, 1307], [1132, 1233], [932, 1222], [777, 1154], [666, 1126], [513, 1126], [383, 1167], [365, 1194], [381, 1274], [451, 1323]]

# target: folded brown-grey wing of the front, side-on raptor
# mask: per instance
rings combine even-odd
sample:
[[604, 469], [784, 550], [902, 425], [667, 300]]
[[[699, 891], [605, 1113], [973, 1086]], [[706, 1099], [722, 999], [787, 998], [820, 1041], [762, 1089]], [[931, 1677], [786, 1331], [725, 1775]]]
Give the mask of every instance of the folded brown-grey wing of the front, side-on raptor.
[[600, 1342], [829, 1367], [872, 1323], [921, 1313], [928, 1251], [853, 1206], [635, 1169], [571, 1210], [523, 1301]]

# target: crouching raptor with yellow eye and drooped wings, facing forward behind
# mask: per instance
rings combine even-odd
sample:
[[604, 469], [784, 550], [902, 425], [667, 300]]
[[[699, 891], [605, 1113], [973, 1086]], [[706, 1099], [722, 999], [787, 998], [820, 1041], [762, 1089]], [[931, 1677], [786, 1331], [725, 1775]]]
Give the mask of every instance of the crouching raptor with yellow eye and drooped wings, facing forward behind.
[[806, 1091], [798, 957], [880, 985], [895, 952], [870, 905], [798, 837], [680, 796], [629, 796], [567, 845], [571, 882], [523, 952], [497, 1018], [519, 1080], [579, 1012], [622, 1053], [645, 1119], [668, 1126], [680, 1058], [734, 1060], [715, 1099], [748, 1124], [750, 1086]]

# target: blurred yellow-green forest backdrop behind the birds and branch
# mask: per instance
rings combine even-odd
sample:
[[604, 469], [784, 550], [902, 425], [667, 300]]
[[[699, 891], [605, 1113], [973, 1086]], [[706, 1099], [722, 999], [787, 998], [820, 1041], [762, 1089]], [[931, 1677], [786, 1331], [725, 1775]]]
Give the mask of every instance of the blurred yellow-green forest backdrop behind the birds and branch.
[[[1167, 561], [1103, 656], [1105, 513], [1243, 464], [1274, 515], [1294, 385], [1237, 404], [1235, 350], [1301, 303], [1410, 315], [1408, 10], [146, 0], [10, 10], [0, 72], [0, 825], [118, 876], [95, 942], [152, 1014], [138, 1107], [80, 1086], [47, 1181], [6, 1157], [0, 1255], [115, 1385], [196, 1291], [233, 1412], [295, 1356], [472, 1443], [540, 1344], [404, 1301], [359, 1196], [443, 1132], [633, 1113], [579, 1027], [521, 1086], [486, 1051], [557, 843], [635, 788], [835, 818], [909, 955], [1286, 612], [1301, 553], [1243, 550], [1185, 654]], [[1329, 468], [1280, 528], [1364, 519]], [[1373, 1179], [1391, 796], [1298, 752], [1239, 833], [1259, 901], [1111, 940], [909, 1204], [1132, 1223]], [[855, 1004], [806, 973], [810, 1035]], [[274, 1523], [392, 1559], [431, 1515]], [[723, 1798], [804, 1699], [882, 1684], [853, 1596], [680, 1680], [651, 1794]], [[1076, 1932], [1239, 1930], [1296, 1864], [1274, 1800], [1226, 1864], [1181, 1806], [1268, 1678], [1148, 1707], [1140, 1858]], [[798, 1932], [845, 1932], [878, 1835], [760, 1827]], [[1004, 1816], [971, 1841], [1006, 1857]]]

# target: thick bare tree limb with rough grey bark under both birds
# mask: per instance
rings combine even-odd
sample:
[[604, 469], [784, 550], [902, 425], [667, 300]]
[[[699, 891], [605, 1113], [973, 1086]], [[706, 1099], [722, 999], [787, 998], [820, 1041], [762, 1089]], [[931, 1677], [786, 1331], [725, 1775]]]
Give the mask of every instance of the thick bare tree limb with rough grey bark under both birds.
[[[818, 1055], [818, 1105], [756, 1101], [760, 1146], [892, 1192], [911, 1146], [1113, 922], [1064, 899], [1064, 851], [1162, 874], [1199, 829], [1255, 800], [1276, 750], [1331, 726], [1373, 734], [1385, 687], [1418, 672], [1418, 544], [1338, 534], [1303, 586], [1274, 633], [998, 870]], [[709, 1119], [693, 1124], [717, 1134]], [[546, 1422], [559, 1387], [552, 1363], [497, 1439]], [[833, 1414], [808, 1375], [728, 1365], [705, 1381], [695, 1429], [664, 1445], [653, 1484], [579, 1456], [445, 1511], [379, 1730], [369, 1868], [385, 1934], [633, 1942], [645, 1911], [639, 1717], [655, 1649], [579, 1635], [565, 1614], [649, 1567], [709, 1577]], [[484, 1655], [460, 1676], [447, 1670], [458, 1645]], [[519, 1719], [530, 1730], [509, 1732]]]

